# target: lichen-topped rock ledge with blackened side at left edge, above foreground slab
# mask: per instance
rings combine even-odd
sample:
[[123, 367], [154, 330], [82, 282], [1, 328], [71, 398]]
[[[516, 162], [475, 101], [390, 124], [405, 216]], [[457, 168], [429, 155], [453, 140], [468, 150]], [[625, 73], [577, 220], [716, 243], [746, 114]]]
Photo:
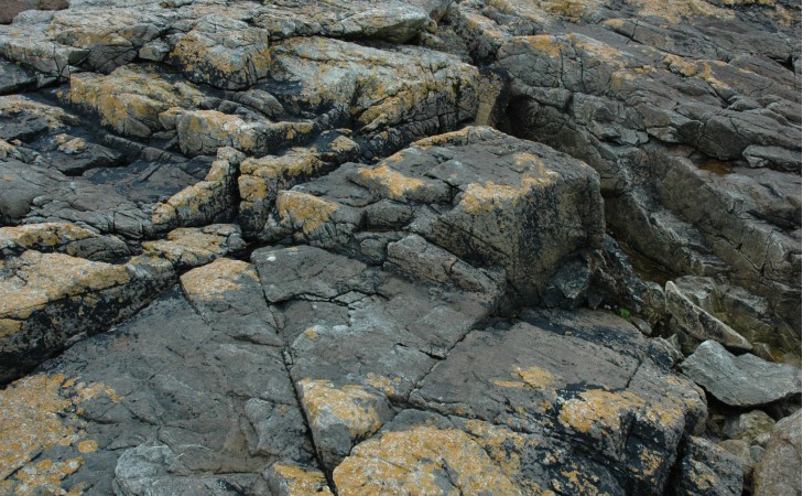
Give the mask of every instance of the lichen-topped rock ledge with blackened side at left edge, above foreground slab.
[[175, 278], [172, 266], [158, 259], [109, 265], [37, 251], [6, 259], [0, 268], [3, 381], [74, 338], [131, 316]]

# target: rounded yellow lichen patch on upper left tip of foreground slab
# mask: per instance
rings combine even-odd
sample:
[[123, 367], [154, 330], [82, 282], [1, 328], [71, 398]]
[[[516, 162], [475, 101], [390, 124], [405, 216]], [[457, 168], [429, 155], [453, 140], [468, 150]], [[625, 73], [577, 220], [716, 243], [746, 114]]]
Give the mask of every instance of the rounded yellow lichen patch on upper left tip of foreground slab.
[[215, 301], [228, 291], [240, 289], [242, 283], [239, 279], [241, 278], [259, 281], [257, 270], [250, 263], [219, 258], [207, 266], [184, 273], [181, 281], [184, 291], [191, 298]]

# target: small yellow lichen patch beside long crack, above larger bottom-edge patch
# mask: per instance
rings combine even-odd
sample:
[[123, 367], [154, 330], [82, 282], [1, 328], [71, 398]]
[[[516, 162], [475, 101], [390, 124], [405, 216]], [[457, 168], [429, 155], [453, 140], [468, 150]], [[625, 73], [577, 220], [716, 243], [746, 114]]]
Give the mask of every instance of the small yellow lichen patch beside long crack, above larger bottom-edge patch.
[[378, 397], [362, 386], [336, 388], [328, 380], [303, 379], [299, 382], [302, 405], [314, 428], [346, 425], [351, 439], [370, 435], [382, 427], [377, 409]]

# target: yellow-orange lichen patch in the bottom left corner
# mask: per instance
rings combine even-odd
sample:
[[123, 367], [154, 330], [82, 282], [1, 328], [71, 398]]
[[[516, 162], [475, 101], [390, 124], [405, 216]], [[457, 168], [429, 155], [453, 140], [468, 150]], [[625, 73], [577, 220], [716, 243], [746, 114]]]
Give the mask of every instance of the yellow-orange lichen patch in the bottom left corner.
[[[80, 457], [64, 462], [45, 457], [30, 463], [42, 452], [57, 445], [76, 445], [82, 453], [97, 450], [95, 441], [82, 439], [82, 421], [76, 416], [78, 407], [100, 393], [112, 401], [120, 400], [106, 385], [65, 379], [62, 375], [39, 374], [0, 391], [0, 479], [15, 473], [15, 479], [26, 486], [30, 494], [64, 494], [59, 481], [83, 463]], [[14, 478], [10, 481], [7, 485], [11, 487]], [[39, 492], [34, 490], [37, 488]]]

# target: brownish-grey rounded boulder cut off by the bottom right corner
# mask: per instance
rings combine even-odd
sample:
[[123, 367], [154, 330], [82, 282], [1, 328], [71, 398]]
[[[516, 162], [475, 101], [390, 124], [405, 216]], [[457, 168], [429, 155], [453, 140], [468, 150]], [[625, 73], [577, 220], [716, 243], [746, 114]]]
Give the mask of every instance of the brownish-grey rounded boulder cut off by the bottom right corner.
[[756, 465], [753, 494], [794, 495], [801, 492], [801, 412], [780, 420], [761, 461]]

